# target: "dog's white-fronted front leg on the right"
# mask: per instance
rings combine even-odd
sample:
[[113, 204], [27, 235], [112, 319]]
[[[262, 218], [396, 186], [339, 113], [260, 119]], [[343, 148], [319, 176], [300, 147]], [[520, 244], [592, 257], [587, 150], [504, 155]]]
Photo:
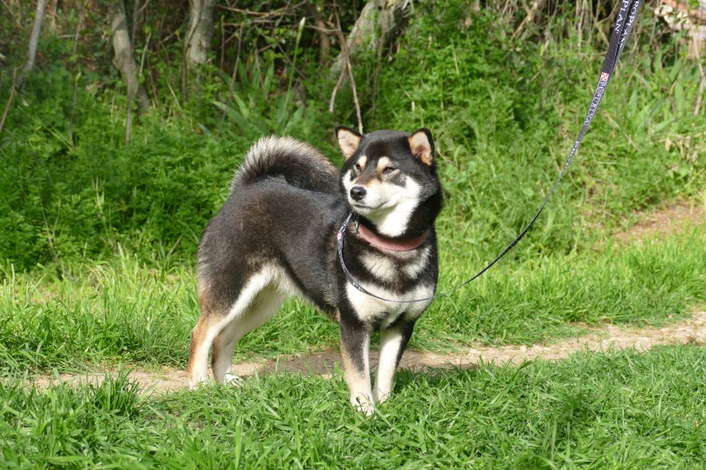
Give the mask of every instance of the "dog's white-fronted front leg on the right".
[[405, 352], [407, 342], [412, 337], [414, 322], [398, 325], [383, 330], [380, 336], [380, 361], [378, 362], [378, 377], [375, 380], [373, 397], [376, 402], [384, 402], [393, 391], [395, 371]]

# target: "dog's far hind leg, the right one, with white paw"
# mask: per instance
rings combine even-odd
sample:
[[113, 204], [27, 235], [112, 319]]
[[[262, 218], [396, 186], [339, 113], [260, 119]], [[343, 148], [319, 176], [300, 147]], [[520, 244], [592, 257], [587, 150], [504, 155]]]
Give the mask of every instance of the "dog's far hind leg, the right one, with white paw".
[[256, 330], [273, 318], [285, 301], [285, 294], [272, 284], [256, 294], [250, 306], [234, 317], [213, 341], [211, 366], [216, 382], [231, 381], [237, 383], [236, 375], [231, 375], [232, 358], [235, 345], [249, 332]]

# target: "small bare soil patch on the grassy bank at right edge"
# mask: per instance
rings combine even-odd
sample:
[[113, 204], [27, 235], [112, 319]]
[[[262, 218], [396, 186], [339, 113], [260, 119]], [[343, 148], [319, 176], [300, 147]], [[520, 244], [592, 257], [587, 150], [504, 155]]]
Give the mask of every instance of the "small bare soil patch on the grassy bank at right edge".
[[706, 222], [703, 207], [690, 203], [678, 203], [646, 215], [627, 231], [615, 234], [618, 241], [628, 242], [653, 239], [659, 236], [681, 233]]

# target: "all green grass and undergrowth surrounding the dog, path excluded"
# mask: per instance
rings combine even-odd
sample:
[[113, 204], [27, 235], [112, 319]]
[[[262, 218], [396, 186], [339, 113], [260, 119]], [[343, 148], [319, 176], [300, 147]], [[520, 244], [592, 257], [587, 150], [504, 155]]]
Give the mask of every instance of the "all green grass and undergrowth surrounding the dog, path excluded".
[[[3, 66], [23, 60], [13, 44], [18, 30], [28, 36], [30, 3], [0, 7], [10, 13], [0, 15]], [[345, 32], [361, 7], [349, 3], [311, 6], [327, 27], [339, 16]], [[426, 126], [436, 140], [440, 291], [494, 258], [554, 182], [597, 81], [613, 6], [544, 2], [525, 22], [518, 2], [503, 11], [473, 3], [414, 2], [398, 44], [385, 44], [390, 54], [353, 58], [366, 131]], [[149, 114], [131, 109], [129, 144], [104, 2], [59, 2], [0, 133], [0, 467], [705, 462], [702, 345], [404, 371], [373, 418], [347, 406], [340, 375], [164, 396], [141, 394], [125, 374], [100, 386], [21, 384], [86, 366], [184, 368], [198, 238], [249, 145], [287, 133], [339, 164], [333, 128], [356, 121], [347, 81], [328, 112], [333, 58], [299, 4], [219, 2], [211, 60], [198, 69], [183, 63], [184, 11], [166, 0], [128, 4], [145, 6], [134, 55], [152, 103]], [[434, 301], [411, 347], [532, 344], [602, 323], [662, 325], [706, 305], [705, 224], [629, 245], [612, 236], [638, 212], [706, 204], [706, 114], [694, 113], [700, 73], [687, 49], [683, 33], [643, 8], [537, 225], [493, 270]], [[0, 70], [2, 107], [9, 70]], [[235, 359], [336, 347], [337, 335], [323, 315], [287, 301]]]

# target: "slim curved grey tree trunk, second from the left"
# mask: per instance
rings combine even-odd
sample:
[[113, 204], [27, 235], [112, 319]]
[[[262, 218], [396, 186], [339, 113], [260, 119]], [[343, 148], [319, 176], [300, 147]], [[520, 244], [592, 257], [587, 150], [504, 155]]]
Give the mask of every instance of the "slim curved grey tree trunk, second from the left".
[[132, 42], [128, 33], [124, 0], [113, 0], [110, 12], [110, 26], [113, 30], [113, 50], [115, 65], [128, 87], [130, 100], [137, 100], [140, 111], [148, 112], [150, 99], [138, 80], [138, 68], [133, 58]]

